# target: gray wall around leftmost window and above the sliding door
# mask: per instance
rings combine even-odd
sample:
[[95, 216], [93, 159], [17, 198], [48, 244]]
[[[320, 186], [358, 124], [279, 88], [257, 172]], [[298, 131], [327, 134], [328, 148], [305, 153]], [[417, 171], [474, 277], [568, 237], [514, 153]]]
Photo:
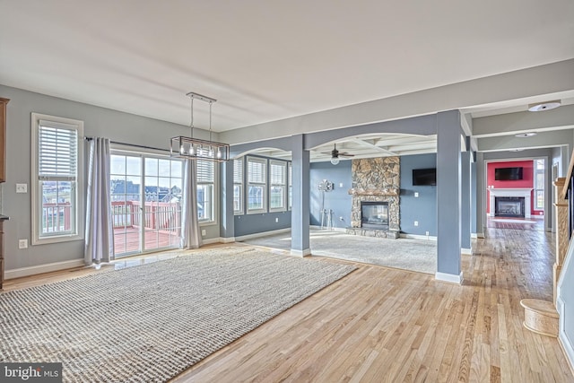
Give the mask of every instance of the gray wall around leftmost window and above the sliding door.
[[[189, 133], [187, 126], [178, 126], [152, 118], [143, 118], [3, 85], [0, 85], [0, 96], [10, 99], [6, 124], [6, 182], [3, 186], [2, 204], [2, 213], [10, 217], [10, 221], [4, 222], [6, 270], [83, 258], [83, 240], [18, 249], [18, 239], [29, 239], [30, 243], [31, 236], [31, 112], [83, 120], [86, 136], [105, 136], [112, 141], [162, 149], [169, 148], [171, 136]], [[200, 129], [196, 129], [196, 136], [207, 138], [206, 132]], [[87, 178], [87, 173], [85, 178]], [[16, 194], [16, 183], [28, 184], [29, 193]], [[204, 239], [219, 237], [219, 225], [205, 226], [204, 229], [206, 231]], [[83, 224], [80, 232], [83, 232]]]

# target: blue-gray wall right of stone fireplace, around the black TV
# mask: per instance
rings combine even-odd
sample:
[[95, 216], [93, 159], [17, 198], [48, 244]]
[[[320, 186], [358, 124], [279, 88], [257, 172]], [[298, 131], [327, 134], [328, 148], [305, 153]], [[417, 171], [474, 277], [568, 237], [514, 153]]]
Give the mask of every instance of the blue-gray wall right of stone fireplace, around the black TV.
[[[425, 235], [429, 231], [429, 235], [437, 235], [437, 187], [413, 186], [413, 169], [436, 166], [435, 153], [401, 157], [401, 232], [405, 234]], [[414, 226], [415, 221], [419, 226]]]

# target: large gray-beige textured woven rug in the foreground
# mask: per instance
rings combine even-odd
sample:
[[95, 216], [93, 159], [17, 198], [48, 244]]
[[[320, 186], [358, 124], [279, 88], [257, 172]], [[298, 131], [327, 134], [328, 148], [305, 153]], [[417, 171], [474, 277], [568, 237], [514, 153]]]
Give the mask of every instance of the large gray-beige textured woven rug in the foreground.
[[0, 293], [0, 361], [64, 381], [166, 381], [354, 267], [217, 248]]

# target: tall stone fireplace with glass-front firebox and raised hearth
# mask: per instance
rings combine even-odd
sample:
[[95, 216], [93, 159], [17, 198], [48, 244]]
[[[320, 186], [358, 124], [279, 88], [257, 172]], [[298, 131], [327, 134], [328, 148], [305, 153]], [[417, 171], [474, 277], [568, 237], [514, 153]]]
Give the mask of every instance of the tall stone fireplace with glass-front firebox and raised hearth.
[[[352, 160], [351, 227], [347, 233], [370, 237], [398, 238], [400, 158], [383, 157]], [[365, 222], [363, 213], [372, 213], [370, 222]], [[377, 213], [378, 212], [378, 213]], [[369, 219], [367, 219], [369, 221]], [[383, 223], [384, 222], [384, 223]]]

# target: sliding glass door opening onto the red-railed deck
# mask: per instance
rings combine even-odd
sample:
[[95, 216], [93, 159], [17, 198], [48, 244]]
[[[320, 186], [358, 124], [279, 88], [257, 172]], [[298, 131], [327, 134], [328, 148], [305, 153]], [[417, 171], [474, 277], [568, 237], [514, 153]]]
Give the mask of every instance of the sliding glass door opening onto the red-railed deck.
[[110, 173], [116, 257], [177, 248], [182, 162], [152, 154], [114, 151]]

